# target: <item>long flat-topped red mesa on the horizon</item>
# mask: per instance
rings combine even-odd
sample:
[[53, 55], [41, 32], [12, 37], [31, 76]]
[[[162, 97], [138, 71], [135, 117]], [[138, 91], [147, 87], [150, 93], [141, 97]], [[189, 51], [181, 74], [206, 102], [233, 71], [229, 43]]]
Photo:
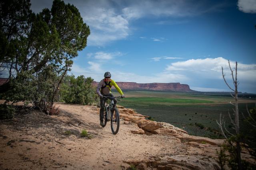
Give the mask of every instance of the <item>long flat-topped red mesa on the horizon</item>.
[[[136, 83], [136, 82], [116, 82], [122, 90], [158, 90], [158, 91], [176, 91], [193, 92], [188, 84], [180, 83]], [[97, 86], [98, 82], [93, 82]]]

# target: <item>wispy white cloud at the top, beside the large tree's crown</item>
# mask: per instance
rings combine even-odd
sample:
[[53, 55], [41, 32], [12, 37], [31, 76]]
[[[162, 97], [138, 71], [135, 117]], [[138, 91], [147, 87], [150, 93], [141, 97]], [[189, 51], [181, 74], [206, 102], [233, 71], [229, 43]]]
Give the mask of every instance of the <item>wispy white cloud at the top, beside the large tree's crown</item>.
[[[88, 45], [105, 46], [112, 41], [126, 39], [130, 33], [130, 23], [144, 17], [184, 17], [196, 16], [218, 8], [213, 5], [197, 1], [177, 0], [64, 0], [65, 3], [74, 4], [83, 17], [84, 22], [90, 26], [91, 34]], [[40, 12], [43, 8], [51, 8], [52, 0], [31, 0], [32, 10]], [[155, 39], [154, 41], [162, 41]]]

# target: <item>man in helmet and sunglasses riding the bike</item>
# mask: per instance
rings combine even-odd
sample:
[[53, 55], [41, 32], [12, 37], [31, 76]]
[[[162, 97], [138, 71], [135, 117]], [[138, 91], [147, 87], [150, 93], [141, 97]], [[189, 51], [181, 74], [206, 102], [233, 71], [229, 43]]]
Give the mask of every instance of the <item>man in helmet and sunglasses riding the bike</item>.
[[[100, 125], [104, 125], [103, 123], [103, 117], [104, 117], [104, 105], [106, 102], [106, 98], [103, 96], [107, 97], [114, 97], [114, 95], [111, 93], [111, 87], [114, 86], [116, 90], [120, 93], [121, 98], [124, 98], [124, 93], [122, 90], [118, 87], [116, 82], [111, 78], [110, 72], [105, 72], [104, 74], [104, 79], [102, 79], [96, 89], [97, 94], [100, 96]], [[116, 107], [117, 100], [114, 98], [114, 106]]]

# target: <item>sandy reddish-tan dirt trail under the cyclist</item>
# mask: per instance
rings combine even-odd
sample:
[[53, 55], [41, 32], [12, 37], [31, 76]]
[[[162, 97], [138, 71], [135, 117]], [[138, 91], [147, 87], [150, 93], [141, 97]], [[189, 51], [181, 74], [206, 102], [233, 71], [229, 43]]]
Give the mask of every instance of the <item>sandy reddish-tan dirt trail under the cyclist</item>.
[[[113, 135], [99, 125], [99, 108], [57, 104], [60, 115], [40, 111], [0, 122], [0, 169], [126, 169], [129, 160], [156, 154], [186, 154], [188, 147], [169, 135], [138, 135], [134, 123]], [[81, 138], [86, 129], [92, 139]], [[72, 135], [65, 135], [65, 131]]]

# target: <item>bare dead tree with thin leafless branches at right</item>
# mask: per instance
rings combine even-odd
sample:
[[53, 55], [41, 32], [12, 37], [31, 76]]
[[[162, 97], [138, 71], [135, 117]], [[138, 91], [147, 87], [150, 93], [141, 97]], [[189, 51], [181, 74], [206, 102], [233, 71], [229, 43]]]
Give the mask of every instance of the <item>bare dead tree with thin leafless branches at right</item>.
[[[225, 74], [223, 72], [223, 67], [222, 68], [222, 76], [223, 76], [223, 79], [226, 83], [226, 85], [228, 86], [228, 88], [230, 88], [230, 90], [232, 90], [234, 92], [234, 95], [231, 94], [231, 96], [235, 99], [235, 102], [234, 104], [230, 101], [230, 104], [232, 104], [233, 106], [235, 106], [235, 109], [233, 109], [234, 113], [234, 117], [235, 117], [235, 121], [233, 121], [233, 119], [231, 118], [231, 115], [228, 111], [228, 115], [230, 117], [230, 121], [232, 123], [232, 125], [234, 125], [234, 129], [236, 131], [235, 134], [232, 134], [230, 133], [227, 129], [226, 129], [226, 126], [225, 126], [225, 121], [224, 121], [224, 116], [222, 117], [221, 114], [220, 114], [220, 120], [219, 122], [217, 121], [221, 131], [222, 131], [222, 134], [224, 135], [224, 137], [226, 139], [228, 139], [227, 135], [228, 134], [229, 136], [232, 136], [232, 137], [236, 137], [235, 138], [235, 143], [236, 143], [236, 161], [238, 163], [238, 169], [241, 170], [242, 169], [242, 163], [241, 163], [241, 146], [240, 146], [240, 139], [238, 137], [239, 133], [240, 133], [240, 129], [239, 129], [239, 112], [238, 112], [238, 90], [237, 90], [237, 87], [238, 87], [238, 81], [237, 81], [237, 62], [236, 62], [236, 67], [235, 67], [235, 73], [234, 73], [234, 70], [232, 70], [231, 66], [230, 66], [230, 61], [228, 61], [228, 65], [229, 65], [229, 68], [230, 68], [230, 71], [231, 71], [231, 75], [232, 75], [232, 80], [233, 80], [233, 85], [234, 85], [234, 88], [232, 88], [228, 82], [226, 81], [226, 78], [225, 78]], [[226, 133], [225, 133], [226, 132]], [[232, 142], [229, 143], [231, 146], [234, 146]]]

